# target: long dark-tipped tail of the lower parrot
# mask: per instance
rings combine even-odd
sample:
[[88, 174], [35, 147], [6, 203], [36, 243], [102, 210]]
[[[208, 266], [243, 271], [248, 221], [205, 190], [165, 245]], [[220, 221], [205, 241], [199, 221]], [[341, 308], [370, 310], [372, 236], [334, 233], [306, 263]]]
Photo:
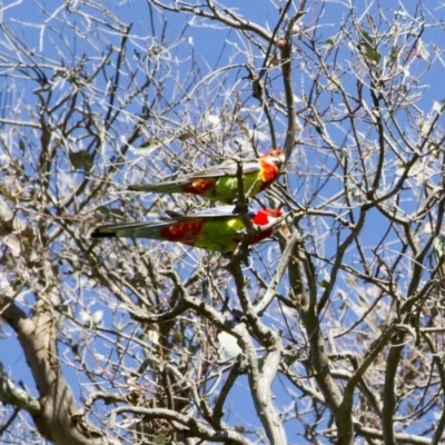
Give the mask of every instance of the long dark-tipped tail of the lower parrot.
[[171, 222], [127, 222], [99, 226], [91, 233], [91, 238], [149, 238], [164, 239], [161, 230]]

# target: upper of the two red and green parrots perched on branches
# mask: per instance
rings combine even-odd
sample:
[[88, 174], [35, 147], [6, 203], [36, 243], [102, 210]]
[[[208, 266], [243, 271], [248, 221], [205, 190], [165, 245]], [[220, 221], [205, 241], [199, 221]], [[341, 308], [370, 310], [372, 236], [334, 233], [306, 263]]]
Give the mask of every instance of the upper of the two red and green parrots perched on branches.
[[[244, 160], [241, 165], [246, 196], [255, 196], [269, 187], [278, 178], [284, 161], [285, 154], [278, 149], [269, 150], [258, 159]], [[231, 204], [238, 196], [237, 169], [238, 164], [235, 160], [228, 160], [177, 179], [136, 184], [129, 186], [128, 189], [157, 194], [195, 194]]]

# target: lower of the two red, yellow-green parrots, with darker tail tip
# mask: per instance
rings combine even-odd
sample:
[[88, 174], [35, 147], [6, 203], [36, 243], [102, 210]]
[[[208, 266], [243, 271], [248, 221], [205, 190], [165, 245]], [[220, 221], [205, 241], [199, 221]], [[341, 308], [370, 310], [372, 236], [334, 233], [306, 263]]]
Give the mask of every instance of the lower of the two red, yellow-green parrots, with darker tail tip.
[[[254, 227], [274, 224], [283, 211], [278, 209], [249, 210]], [[192, 215], [176, 215], [171, 219], [158, 222], [123, 222], [99, 226], [92, 238], [150, 238], [189, 246], [201, 247], [212, 251], [230, 253], [243, 239], [245, 225], [239, 215], [234, 214], [231, 206], [221, 206], [197, 211]], [[273, 227], [255, 235], [250, 244], [256, 244], [271, 236]]]

